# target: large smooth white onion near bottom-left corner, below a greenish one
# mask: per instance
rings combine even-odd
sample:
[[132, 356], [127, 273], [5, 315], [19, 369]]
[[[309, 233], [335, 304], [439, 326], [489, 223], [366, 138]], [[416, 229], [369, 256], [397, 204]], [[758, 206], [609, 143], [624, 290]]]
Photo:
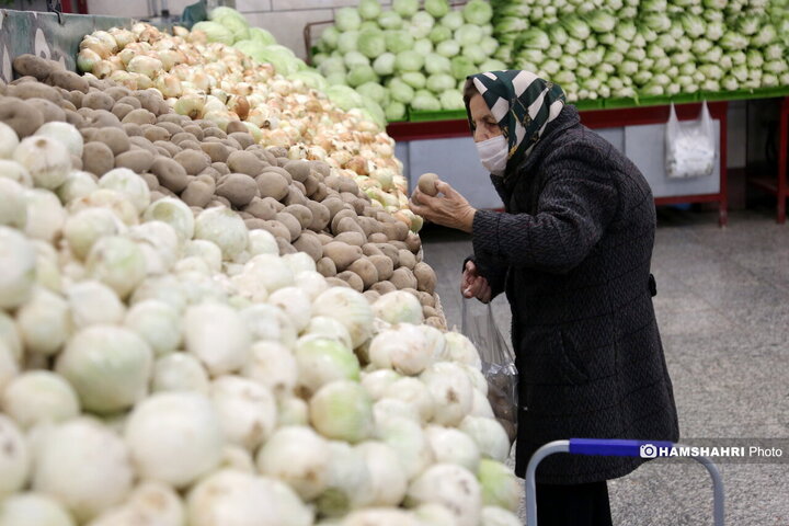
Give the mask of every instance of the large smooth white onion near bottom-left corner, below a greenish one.
[[45, 432], [35, 450], [33, 489], [56, 498], [80, 524], [119, 504], [132, 490], [126, 445], [92, 419]]

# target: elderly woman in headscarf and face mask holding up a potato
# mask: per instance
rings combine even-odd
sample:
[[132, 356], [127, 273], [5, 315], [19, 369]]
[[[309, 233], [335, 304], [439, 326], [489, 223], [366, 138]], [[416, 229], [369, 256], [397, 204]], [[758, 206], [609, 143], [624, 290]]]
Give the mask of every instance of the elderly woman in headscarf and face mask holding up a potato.
[[[411, 209], [471, 233], [465, 297], [488, 302], [506, 291], [519, 375], [516, 473], [556, 439], [677, 441], [643, 175], [581, 125], [559, 85], [528, 71], [474, 75], [464, 95], [505, 211], [476, 210], [444, 182], [435, 197], [416, 190]], [[606, 480], [641, 462], [549, 457], [537, 470], [539, 526], [611, 524]]]

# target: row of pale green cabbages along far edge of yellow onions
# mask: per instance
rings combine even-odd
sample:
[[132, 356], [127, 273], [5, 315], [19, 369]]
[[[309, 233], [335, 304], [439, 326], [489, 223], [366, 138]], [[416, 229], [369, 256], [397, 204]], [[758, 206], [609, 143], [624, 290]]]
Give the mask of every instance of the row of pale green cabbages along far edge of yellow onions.
[[[243, 14], [231, 8], [216, 8], [208, 13], [208, 21], [198, 22], [192, 31], [205, 33], [207, 42], [232, 46], [260, 64], [271, 64], [277, 73], [288, 80], [301, 80], [309, 88], [327, 91], [325, 78], [298, 58], [293, 50], [277, 44], [266, 30], [250, 27]], [[332, 100], [343, 110], [357, 108], [367, 118], [386, 126], [384, 111], [374, 100], [359, 93], [336, 94]]]

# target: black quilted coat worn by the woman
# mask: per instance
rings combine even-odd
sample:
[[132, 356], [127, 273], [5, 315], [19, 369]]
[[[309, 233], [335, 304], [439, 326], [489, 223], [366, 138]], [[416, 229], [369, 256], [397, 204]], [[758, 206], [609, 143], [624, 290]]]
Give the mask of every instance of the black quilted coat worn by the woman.
[[[492, 180], [506, 211], [477, 213], [473, 258], [512, 307], [517, 474], [556, 439], [677, 441], [652, 308], [655, 209], [641, 172], [565, 106], [517, 173]], [[614, 479], [641, 461], [560, 454], [537, 481]]]

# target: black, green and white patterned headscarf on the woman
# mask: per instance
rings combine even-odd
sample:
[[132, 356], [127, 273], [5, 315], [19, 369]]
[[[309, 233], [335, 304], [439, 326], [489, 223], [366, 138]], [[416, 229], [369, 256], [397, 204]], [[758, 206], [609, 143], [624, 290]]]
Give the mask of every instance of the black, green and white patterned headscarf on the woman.
[[[531, 153], [548, 123], [564, 106], [561, 87], [529, 71], [490, 71], [467, 77], [467, 82], [473, 82], [507, 139], [507, 172]], [[471, 125], [471, 112], [466, 110]]]

